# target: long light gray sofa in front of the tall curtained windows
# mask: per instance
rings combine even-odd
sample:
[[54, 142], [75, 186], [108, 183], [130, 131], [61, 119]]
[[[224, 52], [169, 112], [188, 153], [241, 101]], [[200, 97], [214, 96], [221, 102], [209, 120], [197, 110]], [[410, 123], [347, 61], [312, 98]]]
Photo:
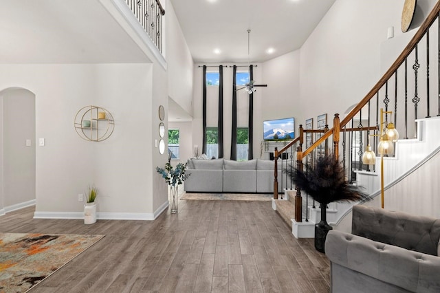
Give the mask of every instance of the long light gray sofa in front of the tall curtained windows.
[[[267, 160], [188, 160], [184, 188], [195, 193], [273, 193], [274, 162]], [[282, 175], [278, 166], [278, 177]], [[283, 184], [285, 185], [285, 184]], [[283, 191], [278, 182], [278, 192]]]

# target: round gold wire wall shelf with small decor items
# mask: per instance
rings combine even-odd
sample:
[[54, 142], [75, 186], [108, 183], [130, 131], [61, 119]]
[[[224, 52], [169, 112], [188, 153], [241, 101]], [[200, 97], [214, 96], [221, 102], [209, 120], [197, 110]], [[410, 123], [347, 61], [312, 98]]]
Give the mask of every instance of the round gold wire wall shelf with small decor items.
[[102, 107], [86, 106], [76, 113], [74, 127], [83, 140], [102, 142], [107, 140], [115, 129], [111, 113]]

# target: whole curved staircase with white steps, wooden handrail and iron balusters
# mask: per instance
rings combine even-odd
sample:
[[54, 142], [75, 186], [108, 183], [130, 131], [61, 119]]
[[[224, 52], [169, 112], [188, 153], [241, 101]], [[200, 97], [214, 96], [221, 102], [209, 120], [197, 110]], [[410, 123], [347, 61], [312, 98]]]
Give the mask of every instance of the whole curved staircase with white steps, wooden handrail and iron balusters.
[[[440, 217], [439, 189], [433, 187], [440, 184], [435, 167], [430, 166], [436, 164], [429, 163], [440, 157], [437, 155], [440, 153], [439, 13], [440, 2], [437, 2], [393, 65], [344, 119], [340, 121], [335, 114], [333, 128], [326, 127], [325, 131], [300, 126], [298, 139], [280, 151], [275, 150], [276, 161], [281, 160], [278, 159], [281, 153], [296, 153], [298, 169], [303, 169], [305, 163], [313, 165], [322, 155], [333, 153], [344, 164], [347, 180], [363, 186], [374, 198], [368, 203], [329, 204], [327, 221], [338, 230], [349, 232], [351, 217], [347, 216], [351, 215], [353, 204], [380, 207], [382, 160], [377, 156], [376, 164], [367, 166], [362, 163], [362, 155], [367, 144], [377, 153], [377, 142], [389, 122], [395, 124], [401, 139], [395, 142], [395, 154], [383, 158], [385, 208]], [[414, 138], [408, 138], [410, 136]], [[311, 145], [303, 148], [310, 138]], [[426, 174], [426, 168], [432, 173]], [[407, 184], [408, 177], [418, 181], [412, 179], [412, 183]], [[277, 180], [275, 175], [274, 183]], [[417, 186], [412, 193], [407, 192], [410, 184]], [[320, 221], [318, 206], [301, 191], [285, 191], [279, 199], [274, 191], [272, 207], [292, 227], [297, 238], [314, 237], [314, 225]]]

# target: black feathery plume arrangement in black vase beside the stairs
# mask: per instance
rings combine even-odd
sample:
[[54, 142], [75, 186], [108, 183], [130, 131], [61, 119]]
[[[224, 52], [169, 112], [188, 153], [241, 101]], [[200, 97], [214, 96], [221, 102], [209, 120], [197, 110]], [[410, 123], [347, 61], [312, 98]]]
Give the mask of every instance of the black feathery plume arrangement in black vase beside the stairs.
[[325, 238], [333, 229], [327, 223], [327, 204], [331, 202], [357, 202], [371, 199], [359, 186], [346, 180], [344, 166], [335, 155], [318, 158], [315, 165], [305, 164], [305, 170], [286, 169], [296, 188], [305, 191], [320, 203], [321, 221], [315, 225], [315, 248], [325, 252]]

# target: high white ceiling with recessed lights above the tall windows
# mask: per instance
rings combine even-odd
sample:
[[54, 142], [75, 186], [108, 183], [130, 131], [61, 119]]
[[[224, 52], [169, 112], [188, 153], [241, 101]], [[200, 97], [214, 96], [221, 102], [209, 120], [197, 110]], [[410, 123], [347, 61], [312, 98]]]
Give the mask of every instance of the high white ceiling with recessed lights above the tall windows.
[[247, 63], [299, 49], [336, 0], [170, 1], [195, 63]]

